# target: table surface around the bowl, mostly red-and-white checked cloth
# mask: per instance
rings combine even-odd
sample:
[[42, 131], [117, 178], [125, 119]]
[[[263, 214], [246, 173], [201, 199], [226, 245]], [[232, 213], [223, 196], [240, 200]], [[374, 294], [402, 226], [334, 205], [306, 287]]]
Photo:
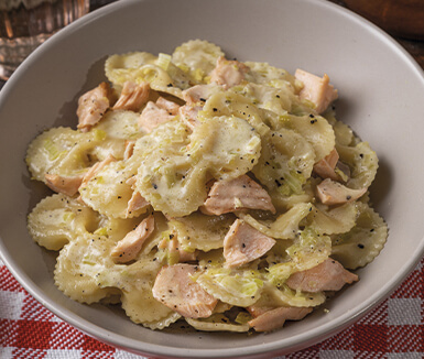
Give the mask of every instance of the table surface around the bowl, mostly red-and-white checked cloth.
[[[113, 0], [93, 1], [97, 9]], [[344, 6], [341, 0], [330, 0]], [[424, 68], [424, 42], [396, 39]], [[281, 359], [424, 357], [424, 259], [367, 316], [336, 336]], [[105, 345], [45, 309], [0, 261], [0, 358], [143, 358]]]

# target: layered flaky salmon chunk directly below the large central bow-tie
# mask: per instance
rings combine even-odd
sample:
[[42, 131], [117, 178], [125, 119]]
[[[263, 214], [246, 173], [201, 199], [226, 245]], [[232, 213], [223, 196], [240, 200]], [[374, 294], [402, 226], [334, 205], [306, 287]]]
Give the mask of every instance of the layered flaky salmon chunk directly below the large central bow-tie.
[[268, 192], [246, 174], [235, 180], [215, 182], [200, 208], [204, 214], [216, 216], [240, 209], [275, 213]]

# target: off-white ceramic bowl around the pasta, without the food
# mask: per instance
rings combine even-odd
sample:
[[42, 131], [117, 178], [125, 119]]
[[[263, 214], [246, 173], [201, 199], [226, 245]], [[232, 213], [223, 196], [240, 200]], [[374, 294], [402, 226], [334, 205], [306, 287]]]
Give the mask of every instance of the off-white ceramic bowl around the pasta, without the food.
[[[171, 52], [191, 39], [231, 57], [294, 72], [329, 74], [338, 118], [380, 157], [372, 200], [390, 227], [381, 254], [360, 282], [326, 307], [268, 335], [161, 333], [121, 311], [81, 305], [53, 284], [53, 253], [29, 237], [25, 219], [43, 185], [30, 181], [28, 143], [43, 129], [73, 124], [78, 96], [104, 80], [107, 55]], [[383, 32], [322, 0], [123, 0], [66, 28], [39, 47], [0, 93], [0, 252], [20, 283], [64, 320], [132, 352], [180, 358], [260, 358], [313, 345], [347, 327], [387, 297], [424, 249], [424, 77]]]

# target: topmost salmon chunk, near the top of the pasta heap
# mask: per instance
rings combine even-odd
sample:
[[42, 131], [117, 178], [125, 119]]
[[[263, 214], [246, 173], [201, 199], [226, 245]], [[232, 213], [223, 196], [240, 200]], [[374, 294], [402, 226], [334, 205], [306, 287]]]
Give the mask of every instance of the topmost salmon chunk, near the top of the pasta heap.
[[221, 85], [225, 89], [240, 85], [249, 67], [236, 59], [229, 61], [224, 56], [218, 57], [217, 64], [210, 73], [210, 83]]

